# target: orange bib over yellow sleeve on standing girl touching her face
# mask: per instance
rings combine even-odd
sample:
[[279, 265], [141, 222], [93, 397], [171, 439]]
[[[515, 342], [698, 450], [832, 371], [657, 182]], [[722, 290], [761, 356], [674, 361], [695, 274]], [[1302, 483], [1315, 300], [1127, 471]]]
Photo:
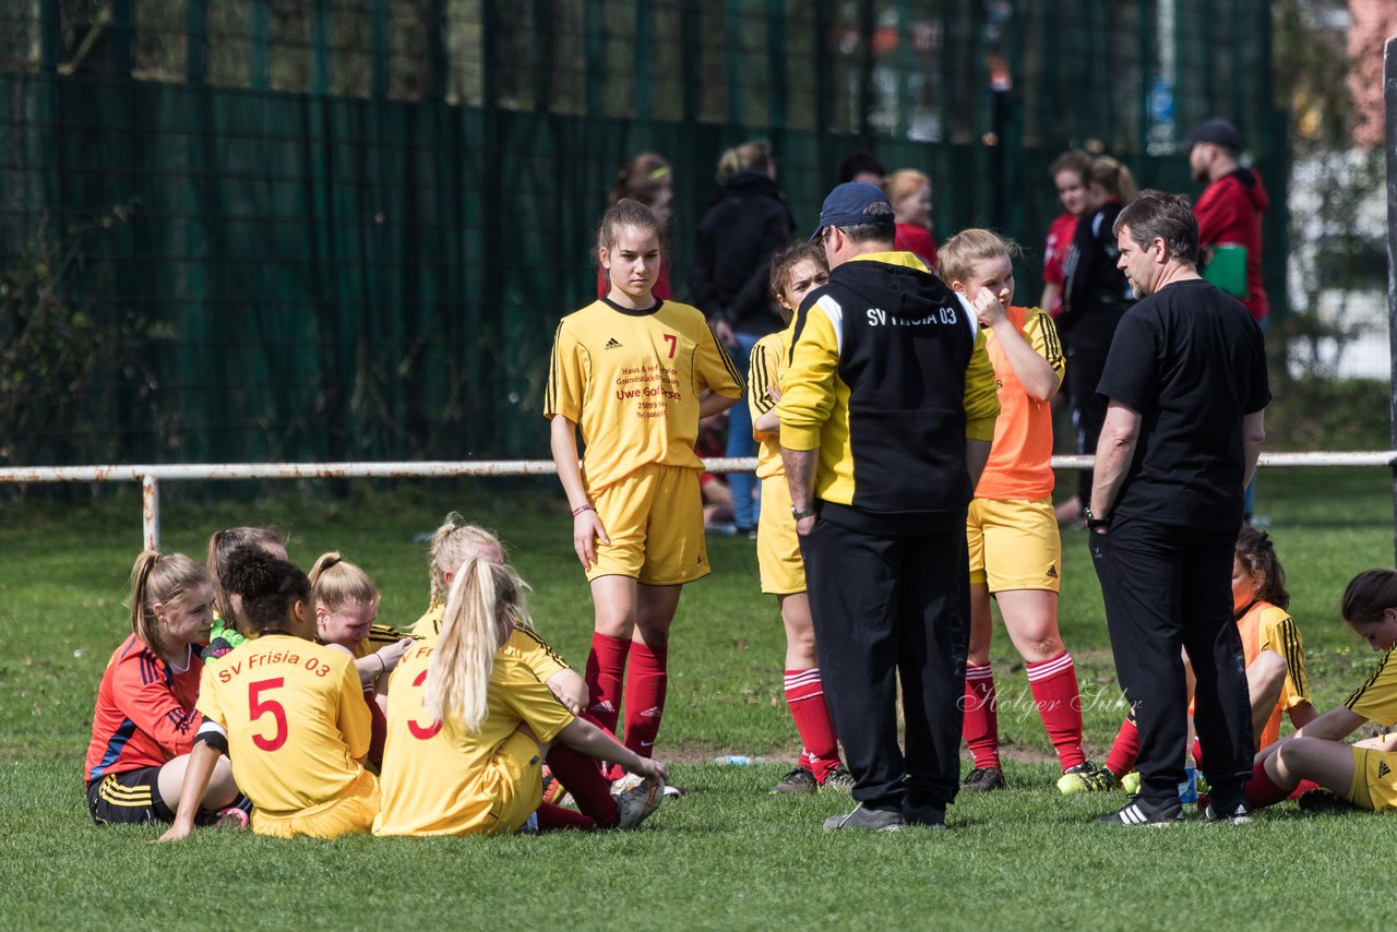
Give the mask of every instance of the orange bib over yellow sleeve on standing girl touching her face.
[[[1048, 361], [1059, 381], [1066, 370], [1062, 342], [1052, 317], [1038, 307], [1010, 307], [1009, 319], [1028, 345]], [[1052, 495], [1052, 402], [1028, 397], [1009, 365], [1004, 348], [985, 328], [985, 349], [999, 386], [999, 419], [989, 463], [975, 486], [977, 499], [1042, 499]]]

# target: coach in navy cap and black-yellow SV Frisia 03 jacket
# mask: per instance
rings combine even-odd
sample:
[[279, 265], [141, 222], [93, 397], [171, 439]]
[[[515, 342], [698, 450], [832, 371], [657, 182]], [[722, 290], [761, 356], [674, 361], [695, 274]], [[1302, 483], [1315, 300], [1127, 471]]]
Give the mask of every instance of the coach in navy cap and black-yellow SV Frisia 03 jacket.
[[858, 806], [827, 829], [943, 826], [960, 777], [965, 509], [999, 400], [975, 316], [893, 235], [877, 187], [824, 200], [833, 271], [791, 324], [777, 405], [824, 697], [856, 780]]

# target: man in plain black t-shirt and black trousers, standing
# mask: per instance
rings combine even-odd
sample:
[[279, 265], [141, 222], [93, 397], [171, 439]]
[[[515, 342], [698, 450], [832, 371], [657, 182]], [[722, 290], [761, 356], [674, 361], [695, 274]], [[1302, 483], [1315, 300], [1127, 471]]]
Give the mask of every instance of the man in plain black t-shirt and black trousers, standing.
[[1119, 265], [1143, 300], [1120, 320], [1097, 387], [1108, 408], [1085, 517], [1116, 675], [1140, 729], [1140, 795], [1104, 820], [1183, 819], [1182, 647], [1213, 785], [1204, 817], [1241, 822], [1253, 739], [1231, 577], [1271, 398], [1261, 330], [1199, 277], [1187, 198], [1144, 191], [1115, 232]]

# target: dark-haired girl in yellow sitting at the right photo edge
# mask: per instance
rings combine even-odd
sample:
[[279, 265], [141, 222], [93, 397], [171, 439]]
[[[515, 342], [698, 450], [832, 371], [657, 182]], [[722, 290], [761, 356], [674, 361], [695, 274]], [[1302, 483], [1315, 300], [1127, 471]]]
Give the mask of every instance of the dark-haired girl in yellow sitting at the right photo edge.
[[1355, 576], [1344, 590], [1340, 613], [1348, 629], [1383, 658], [1343, 706], [1257, 755], [1246, 784], [1252, 808], [1277, 803], [1310, 780], [1361, 809], [1397, 809], [1397, 735], [1344, 743], [1344, 738], [1363, 722], [1373, 721], [1384, 728], [1397, 722], [1397, 661], [1393, 660], [1397, 570], [1366, 570]]

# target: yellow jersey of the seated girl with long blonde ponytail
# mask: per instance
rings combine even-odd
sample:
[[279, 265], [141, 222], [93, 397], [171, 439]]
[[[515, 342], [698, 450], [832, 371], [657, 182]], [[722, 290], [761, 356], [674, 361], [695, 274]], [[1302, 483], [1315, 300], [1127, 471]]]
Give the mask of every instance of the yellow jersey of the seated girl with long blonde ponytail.
[[525, 769], [539, 767], [536, 749], [529, 760], [518, 760], [499, 753], [500, 746], [520, 725], [549, 742], [573, 721], [534, 671], [504, 651], [495, 655], [481, 731], [467, 734], [455, 722], [434, 721], [423, 707], [433, 648], [430, 643], [414, 646], [393, 671], [374, 834], [492, 831]]

